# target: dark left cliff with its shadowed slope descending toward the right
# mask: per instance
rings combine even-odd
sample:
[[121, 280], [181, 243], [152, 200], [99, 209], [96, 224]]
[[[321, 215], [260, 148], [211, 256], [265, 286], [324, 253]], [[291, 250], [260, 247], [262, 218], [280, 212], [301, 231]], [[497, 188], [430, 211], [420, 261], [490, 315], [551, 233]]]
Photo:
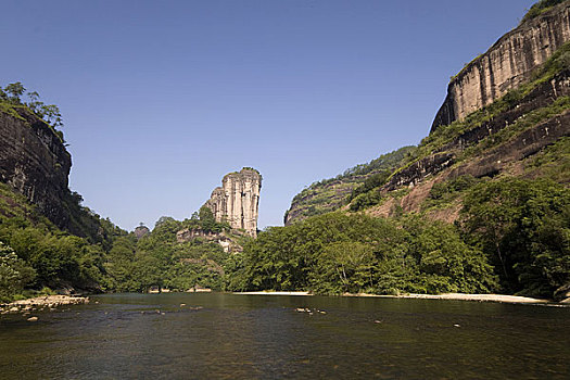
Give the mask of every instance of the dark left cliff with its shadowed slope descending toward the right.
[[60, 229], [107, 244], [112, 224], [68, 189], [71, 167], [61, 131], [20, 99], [0, 98], [0, 182], [25, 195]]

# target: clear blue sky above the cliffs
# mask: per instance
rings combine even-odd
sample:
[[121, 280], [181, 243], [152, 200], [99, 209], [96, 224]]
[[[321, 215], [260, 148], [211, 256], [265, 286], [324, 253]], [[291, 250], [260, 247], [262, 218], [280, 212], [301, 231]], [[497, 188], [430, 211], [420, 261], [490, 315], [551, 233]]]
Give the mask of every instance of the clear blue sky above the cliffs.
[[60, 106], [71, 188], [121, 227], [190, 217], [253, 166], [263, 228], [418, 143], [449, 77], [533, 2], [3, 0], [0, 85]]

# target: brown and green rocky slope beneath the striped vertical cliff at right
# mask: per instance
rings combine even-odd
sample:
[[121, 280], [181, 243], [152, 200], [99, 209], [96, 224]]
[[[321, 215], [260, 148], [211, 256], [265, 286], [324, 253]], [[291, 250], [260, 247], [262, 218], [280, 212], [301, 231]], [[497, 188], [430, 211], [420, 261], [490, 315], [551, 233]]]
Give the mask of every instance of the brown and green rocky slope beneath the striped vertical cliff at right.
[[[565, 137], [570, 135], [569, 58], [570, 43], [565, 43], [534, 72], [532, 81], [464, 121], [433, 131], [420, 143], [413, 162], [395, 170], [385, 185], [371, 190], [379, 194], [378, 206], [369, 212], [384, 216], [393, 215], [396, 210], [418, 212], [425, 208], [422, 203], [429, 199], [434, 183], [464, 176], [530, 176], [530, 166], [534, 178], [549, 176], [533, 164], [536, 160], [533, 155], [547, 154], [552, 144], [568, 143]], [[567, 181], [565, 175], [555, 179]], [[398, 189], [398, 197], [392, 197]], [[453, 221], [457, 213], [445, 215], [447, 221]]]

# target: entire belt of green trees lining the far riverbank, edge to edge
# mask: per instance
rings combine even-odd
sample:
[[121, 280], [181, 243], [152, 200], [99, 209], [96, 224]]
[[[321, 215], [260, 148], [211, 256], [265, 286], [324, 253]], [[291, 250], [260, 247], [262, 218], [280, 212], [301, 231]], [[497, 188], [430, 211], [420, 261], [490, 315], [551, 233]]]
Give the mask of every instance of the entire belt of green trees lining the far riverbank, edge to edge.
[[[7, 189], [0, 203], [7, 202]], [[92, 243], [59, 230], [14, 194], [11, 207], [0, 204], [0, 299], [45, 287], [144, 292], [153, 286], [555, 297], [570, 283], [569, 189], [545, 179], [459, 178], [435, 187], [433, 201], [446, 202], [448, 191], [463, 191], [455, 224], [421, 214], [375, 218], [335, 212], [270, 227], [256, 240], [243, 237], [242, 253], [227, 253], [207, 237], [177, 240], [185, 228], [230, 233], [208, 208], [182, 221], [162, 217], [141, 239], [115, 227], [104, 242]], [[7, 210], [15, 214], [7, 216]]]

